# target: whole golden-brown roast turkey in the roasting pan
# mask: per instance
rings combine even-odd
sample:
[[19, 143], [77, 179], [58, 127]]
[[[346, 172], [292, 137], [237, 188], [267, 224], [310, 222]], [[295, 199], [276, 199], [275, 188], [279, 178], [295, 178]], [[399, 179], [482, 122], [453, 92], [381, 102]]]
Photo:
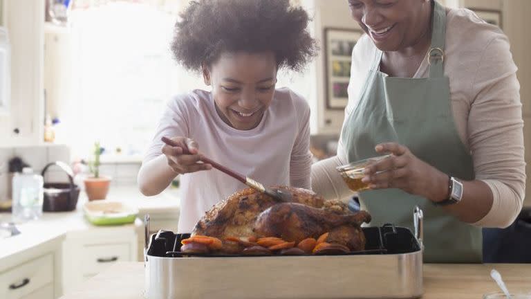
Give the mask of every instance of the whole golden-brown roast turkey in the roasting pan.
[[365, 211], [353, 213], [342, 201], [325, 201], [310, 190], [283, 187], [292, 194], [290, 202], [281, 202], [252, 188], [232, 194], [217, 203], [198, 221], [192, 236], [205, 235], [223, 240], [218, 253], [241, 253], [245, 244], [226, 239], [279, 237], [297, 244], [306, 238], [328, 233], [330, 244], [341, 244], [351, 251], [364, 249], [360, 228], [371, 217]]

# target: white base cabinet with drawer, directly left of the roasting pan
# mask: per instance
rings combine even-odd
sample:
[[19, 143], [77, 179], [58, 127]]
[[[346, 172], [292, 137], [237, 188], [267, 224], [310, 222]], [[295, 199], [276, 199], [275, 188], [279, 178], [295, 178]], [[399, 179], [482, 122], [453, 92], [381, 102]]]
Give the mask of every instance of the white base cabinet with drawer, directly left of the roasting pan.
[[137, 260], [138, 239], [134, 225], [91, 227], [66, 233], [63, 243], [64, 293], [115, 262]]

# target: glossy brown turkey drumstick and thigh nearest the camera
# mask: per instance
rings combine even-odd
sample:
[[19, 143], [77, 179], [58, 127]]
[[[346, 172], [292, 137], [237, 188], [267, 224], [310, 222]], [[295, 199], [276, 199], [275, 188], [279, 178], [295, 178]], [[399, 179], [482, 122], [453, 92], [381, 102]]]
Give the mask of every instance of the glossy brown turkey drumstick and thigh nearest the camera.
[[296, 243], [328, 233], [325, 242], [342, 244], [357, 251], [365, 245], [360, 225], [369, 221], [371, 215], [366, 211], [341, 215], [300, 203], [278, 203], [259, 215], [254, 233]]

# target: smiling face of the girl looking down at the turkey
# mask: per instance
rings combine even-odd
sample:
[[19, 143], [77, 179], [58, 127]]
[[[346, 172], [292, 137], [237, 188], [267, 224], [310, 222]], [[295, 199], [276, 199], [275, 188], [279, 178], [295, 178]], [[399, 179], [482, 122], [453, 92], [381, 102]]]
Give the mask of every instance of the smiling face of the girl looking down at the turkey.
[[212, 85], [218, 115], [231, 127], [257, 127], [268, 109], [277, 83], [274, 53], [223, 53], [203, 78]]

